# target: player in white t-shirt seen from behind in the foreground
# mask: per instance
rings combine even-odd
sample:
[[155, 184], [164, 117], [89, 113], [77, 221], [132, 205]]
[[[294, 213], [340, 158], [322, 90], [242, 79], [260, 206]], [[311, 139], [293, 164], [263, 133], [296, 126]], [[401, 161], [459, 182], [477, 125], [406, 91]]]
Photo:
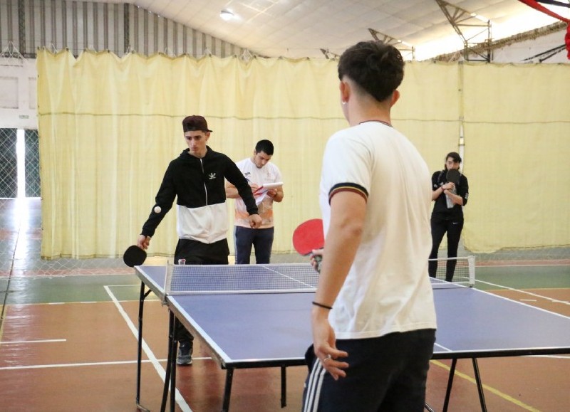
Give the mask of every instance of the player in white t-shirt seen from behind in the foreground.
[[326, 144], [325, 247], [311, 311], [304, 411], [422, 411], [435, 342], [430, 172], [393, 129], [404, 62], [382, 42], [338, 61], [350, 127]]

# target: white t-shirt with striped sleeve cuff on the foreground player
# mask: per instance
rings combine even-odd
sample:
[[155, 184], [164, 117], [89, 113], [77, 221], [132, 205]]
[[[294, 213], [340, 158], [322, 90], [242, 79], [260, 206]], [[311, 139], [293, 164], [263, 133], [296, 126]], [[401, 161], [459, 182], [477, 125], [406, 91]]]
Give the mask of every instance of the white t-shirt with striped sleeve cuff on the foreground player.
[[329, 315], [337, 339], [435, 329], [427, 274], [431, 180], [418, 150], [380, 122], [333, 134], [319, 195], [325, 233], [329, 196], [342, 190], [362, 193], [367, 204], [361, 245]]

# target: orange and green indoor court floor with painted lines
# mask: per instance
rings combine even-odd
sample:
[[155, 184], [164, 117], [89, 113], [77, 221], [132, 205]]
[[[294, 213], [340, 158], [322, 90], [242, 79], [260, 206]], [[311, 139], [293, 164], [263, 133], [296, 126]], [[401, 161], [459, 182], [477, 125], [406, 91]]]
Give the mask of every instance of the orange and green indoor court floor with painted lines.
[[[38, 199], [0, 199], [0, 410], [136, 411], [140, 281], [120, 259], [40, 260], [40, 207]], [[476, 287], [570, 317], [568, 249], [547, 260], [507, 260], [477, 256]], [[149, 296], [140, 402], [151, 411], [160, 410], [167, 319], [166, 308]], [[449, 365], [432, 361], [427, 402], [435, 410], [442, 408]], [[479, 359], [479, 366], [489, 411], [570, 410], [570, 355]], [[281, 409], [279, 369], [239, 369], [230, 410], [299, 411], [305, 374], [303, 366], [287, 369]], [[197, 341], [192, 366], [177, 368], [184, 399], [177, 410], [219, 411], [224, 379]], [[450, 411], [480, 411], [469, 359], [458, 362]]]

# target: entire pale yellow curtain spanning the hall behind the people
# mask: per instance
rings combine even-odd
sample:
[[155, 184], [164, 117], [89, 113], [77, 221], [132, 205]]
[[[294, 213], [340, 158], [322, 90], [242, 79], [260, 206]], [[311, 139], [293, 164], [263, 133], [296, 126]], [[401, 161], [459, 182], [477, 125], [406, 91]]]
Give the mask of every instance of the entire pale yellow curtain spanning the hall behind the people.
[[[274, 253], [290, 252], [296, 225], [320, 215], [323, 147], [347, 126], [336, 61], [107, 52], [76, 59], [40, 51], [37, 65], [43, 258], [115, 257], [135, 243], [168, 162], [185, 148], [181, 121], [193, 114], [214, 130], [212, 149], [234, 161], [249, 157], [259, 139], [274, 142], [272, 161], [285, 182], [284, 201], [275, 205]], [[393, 123], [432, 171], [457, 150], [464, 126], [472, 195], [464, 238], [471, 250], [570, 244], [561, 200], [570, 187], [562, 159], [569, 152], [569, 70], [406, 65]], [[510, 177], [499, 176], [504, 169]], [[232, 216], [232, 201], [228, 208]], [[175, 218], [172, 211], [162, 221], [150, 255], [172, 255]]]

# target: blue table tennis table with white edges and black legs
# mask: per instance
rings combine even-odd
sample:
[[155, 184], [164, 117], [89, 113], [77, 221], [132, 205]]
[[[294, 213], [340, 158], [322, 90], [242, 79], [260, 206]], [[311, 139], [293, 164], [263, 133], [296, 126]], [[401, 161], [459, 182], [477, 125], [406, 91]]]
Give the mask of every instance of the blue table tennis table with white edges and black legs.
[[[291, 270], [316, 276], [309, 264], [230, 265], [259, 272]], [[255, 268], [254, 268], [255, 266]], [[194, 267], [199, 270], [199, 267]], [[207, 268], [202, 266], [202, 268]], [[218, 268], [219, 270], [226, 270]], [[192, 271], [192, 266], [184, 270]], [[217, 268], [209, 267], [216, 271]], [[232, 269], [234, 270], [234, 269]], [[152, 291], [170, 310], [169, 355], [162, 410], [170, 383], [170, 408], [174, 411], [176, 339], [175, 322], [181, 322], [207, 344], [222, 369], [227, 370], [222, 410], [229, 410], [234, 369], [278, 366], [281, 368], [281, 406], [285, 405], [286, 367], [305, 364], [311, 344], [310, 310], [314, 290], [193, 291], [177, 295], [165, 289], [165, 266], [137, 266], [141, 280], [137, 405], [140, 406], [140, 356], [142, 307]], [[262, 273], [262, 272], [260, 272]], [[433, 280], [437, 337], [432, 359], [451, 359], [443, 410], [449, 404], [457, 359], [472, 359], [482, 411], [487, 410], [477, 359], [484, 357], [570, 354], [570, 318], [515, 302], [472, 287]], [[224, 282], [220, 282], [224, 283]], [[314, 286], [313, 285], [313, 286]], [[146, 290], [146, 287], [148, 290]], [[142, 408], [142, 406], [141, 406]], [[432, 411], [426, 405], [427, 410]]]

